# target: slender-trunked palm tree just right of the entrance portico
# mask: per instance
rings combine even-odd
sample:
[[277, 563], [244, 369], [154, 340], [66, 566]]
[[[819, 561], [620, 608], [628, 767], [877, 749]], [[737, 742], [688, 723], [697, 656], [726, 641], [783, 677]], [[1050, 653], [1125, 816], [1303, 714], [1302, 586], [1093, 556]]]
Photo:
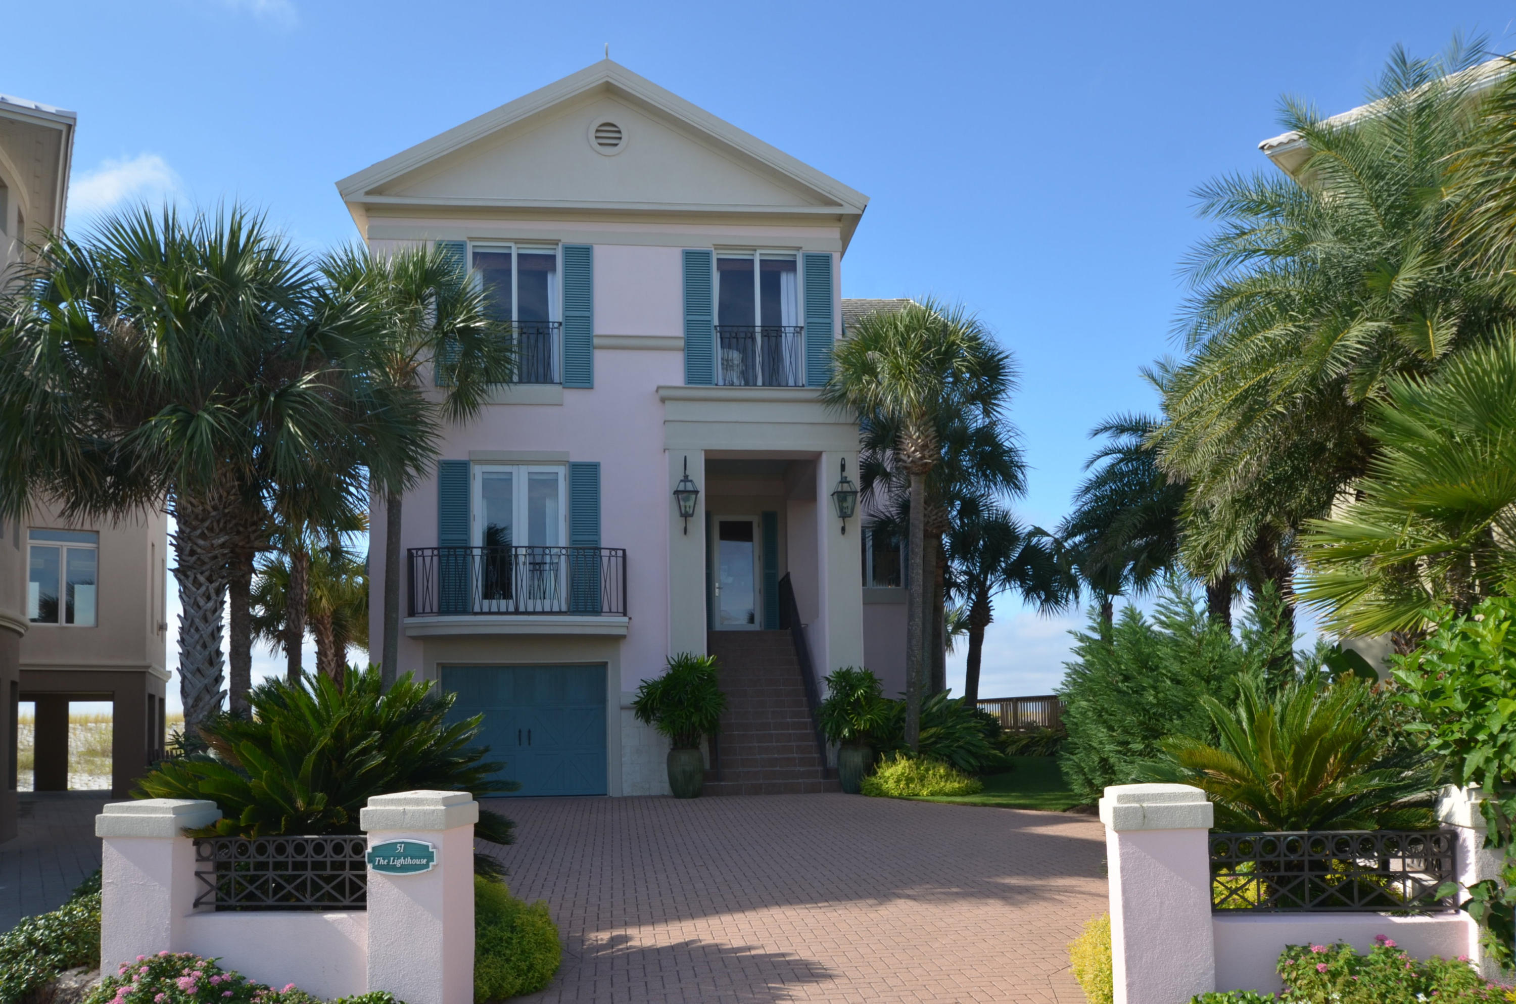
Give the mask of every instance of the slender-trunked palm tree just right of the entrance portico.
[[905, 742], [920, 739], [922, 655], [926, 582], [926, 478], [941, 455], [940, 429], [949, 416], [998, 422], [1011, 381], [1010, 358], [963, 308], [932, 300], [893, 314], [864, 317], [834, 350], [832, 376], [822, 399], [855, 416], [866, 428], [890, 423], [901, 470], [910, 478], [911, 557], [905, 652]]

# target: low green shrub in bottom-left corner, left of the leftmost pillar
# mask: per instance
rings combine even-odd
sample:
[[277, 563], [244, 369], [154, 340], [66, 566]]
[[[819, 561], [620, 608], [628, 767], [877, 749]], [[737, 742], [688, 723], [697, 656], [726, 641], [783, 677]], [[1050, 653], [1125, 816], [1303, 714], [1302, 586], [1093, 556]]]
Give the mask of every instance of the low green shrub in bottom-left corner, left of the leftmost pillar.
[[100, 965], [100, 872], [86, 878], [68, 902], [23, 918], [0, 934], [0, 1004], [21, 1004], [58, 974]]

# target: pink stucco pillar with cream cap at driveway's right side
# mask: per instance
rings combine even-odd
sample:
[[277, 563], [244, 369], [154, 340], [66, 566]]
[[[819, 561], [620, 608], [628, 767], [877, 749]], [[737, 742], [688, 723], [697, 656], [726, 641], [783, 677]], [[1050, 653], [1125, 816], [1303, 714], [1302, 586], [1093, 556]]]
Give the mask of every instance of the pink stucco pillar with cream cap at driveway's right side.
[[1175, 1004], [1216, 989], [1213, 816], [1205, 792], [1189, 784], [1105, 789], [1116, 1004]]

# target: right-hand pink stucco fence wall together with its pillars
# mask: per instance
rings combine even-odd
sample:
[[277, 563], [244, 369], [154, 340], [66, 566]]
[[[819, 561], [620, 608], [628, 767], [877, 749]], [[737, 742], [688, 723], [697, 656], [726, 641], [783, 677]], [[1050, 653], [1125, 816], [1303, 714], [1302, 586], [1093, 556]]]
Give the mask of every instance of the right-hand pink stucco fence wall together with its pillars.
[[[1457, 830], [1457, 881], [1467, 887], [1499, 869], [1484, 851], [1478, 795], [1449, 789], [1439, 804]], [[1254, 913], [1211, 910], [1205, 793], [1186, 784], [1122, 784], [1101, 799], [1111, 901], [1116, 1004], [1184, 1004], [1208, 990], [1281, 989], [1276, 963], [1287, 945], [1345, 942], [1358, 952], [1380, 934], [1416, 959], [1466, 955], [1480, 962], [1478, 925], [1461, 911]], [[1486, 977], [1492, 966], [1481, 963]]]

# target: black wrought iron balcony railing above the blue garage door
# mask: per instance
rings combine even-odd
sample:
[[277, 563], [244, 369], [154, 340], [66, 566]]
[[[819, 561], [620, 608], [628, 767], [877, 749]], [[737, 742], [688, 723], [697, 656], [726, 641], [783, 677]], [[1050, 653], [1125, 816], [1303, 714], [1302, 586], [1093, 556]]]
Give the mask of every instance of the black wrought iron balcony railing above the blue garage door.
[[626, 616], [622, 547], [411, 547], [411, 616]]

